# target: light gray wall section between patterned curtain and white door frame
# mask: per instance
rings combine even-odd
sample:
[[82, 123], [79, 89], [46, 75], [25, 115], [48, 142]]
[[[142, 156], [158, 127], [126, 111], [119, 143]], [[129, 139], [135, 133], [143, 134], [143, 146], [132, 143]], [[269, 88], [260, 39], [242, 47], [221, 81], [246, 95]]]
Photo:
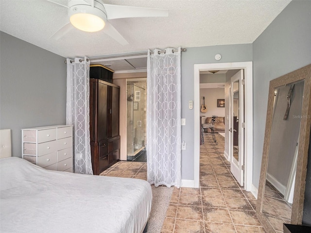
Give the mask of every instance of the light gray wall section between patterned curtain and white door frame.
[[[194, 64], [248, 62], [253, 59], [252, 51], [252, 44], [241, 44], [187, 48], [187, 52], [182, 52], [181, 117], [186, 118], [186, 125], [181, 127], [181, 136], [182, 140], [187, 143], [186, 150], [182, 150], [181, 152], [182, 179], [194, 179], [194, 111], [188, 107], [189, 100], [194, 99]], [[222, 55], [220, 61], [216, 61], [214, 58], [217, 53]]]

